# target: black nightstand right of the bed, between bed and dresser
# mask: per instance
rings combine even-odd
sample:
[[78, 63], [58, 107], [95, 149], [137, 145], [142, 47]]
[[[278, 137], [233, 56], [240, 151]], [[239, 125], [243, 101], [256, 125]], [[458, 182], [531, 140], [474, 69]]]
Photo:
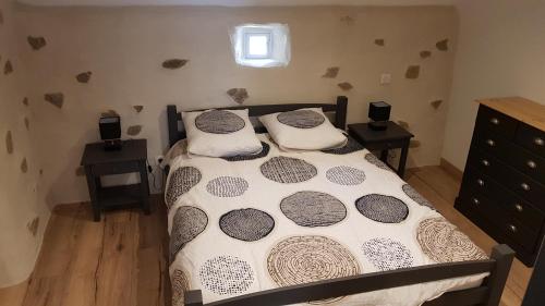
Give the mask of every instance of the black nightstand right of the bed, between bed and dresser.
[[380, 160], [384, 162], [387, 162], [389, 149], [401, 148], [397, 172], [400, 178], [403, 178], [409, 143], [414, 135], [391, 121], [388, 121], [387, 126], [385, 131], [373, 131], [367, 123], [355, 123], [348, 125], [348, 133], [366, 149], [380, 150]]

